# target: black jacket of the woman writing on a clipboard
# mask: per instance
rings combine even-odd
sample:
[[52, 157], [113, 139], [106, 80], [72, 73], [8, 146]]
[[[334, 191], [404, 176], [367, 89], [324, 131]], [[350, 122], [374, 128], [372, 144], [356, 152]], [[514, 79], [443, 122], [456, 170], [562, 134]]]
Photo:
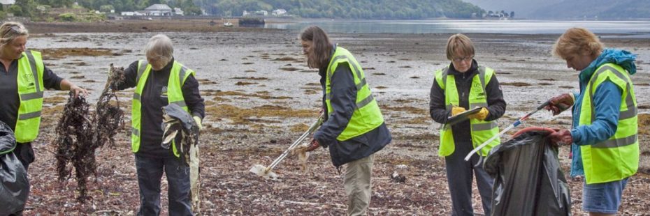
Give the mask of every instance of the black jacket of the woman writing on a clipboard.
[[[454, 75], [456, 80], [456, 88], [458, 89], [458, 106], [468, 109], [470, 106], [469, 96], [470, 88], [472, 87], [472, 78], [479, 74], [479, 65], [476, 60], [472, 60], [472, 67], [466, 72], [458, 72], [453, 64], [449, 64], [449, 75]], [[503, 116], [505, 113], [505, 100], [503, 100], [503, 93], [501, 87], [493, 75], [490, 81], [485, 86], [487, 95], [488, 111], [490, 114], [485, 118], [485, 121], [493, 121]], [[451, 116], [452, 112], [445, 109], [445, 91], [438, 86], [438, 82], [433, 81], [431, 85], [431, 102], [429, 102], [429, 112], [433, 121], [438, 123], [445, 123], [447, 118]], [[452, 125], [452, 132], [454, 134], [454, 143], [472, 143], [470, 121], [462, 121], [456, 125]]]

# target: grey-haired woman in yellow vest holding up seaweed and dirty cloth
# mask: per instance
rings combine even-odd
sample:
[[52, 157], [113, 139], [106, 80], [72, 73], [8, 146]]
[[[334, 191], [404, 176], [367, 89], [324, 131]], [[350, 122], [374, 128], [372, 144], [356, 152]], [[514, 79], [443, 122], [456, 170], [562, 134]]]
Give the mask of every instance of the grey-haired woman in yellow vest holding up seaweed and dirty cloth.
[[205, 116], [203, 98], [198, 93], [194, 70], [175, 61], [171, 40], [164, 35], [150, 38], [145, 46], [147, 60], [131, 63], [122, 84], [115, 90], [136, 88], [131, 113], [131, 149], [136, 157], [140, 187], [138, 215], [159, 215], [160, 180], [163, 171], [168, 182], [169, 215], [192, 215], [189, 167], [182, 164], [175, 146], [161, 147], [164, 131], [162, 107], [181, 104], [197, 125]]

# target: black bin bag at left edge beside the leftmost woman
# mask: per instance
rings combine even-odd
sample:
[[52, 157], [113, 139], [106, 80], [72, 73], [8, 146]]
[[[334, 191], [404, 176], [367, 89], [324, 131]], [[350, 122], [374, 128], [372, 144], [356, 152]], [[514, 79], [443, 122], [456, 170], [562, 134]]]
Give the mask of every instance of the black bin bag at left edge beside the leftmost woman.
[[23, 210], [29, 194], [27, 171], [14, 155], [15, 147], [13, 131], [0, 121], [0, 215]]

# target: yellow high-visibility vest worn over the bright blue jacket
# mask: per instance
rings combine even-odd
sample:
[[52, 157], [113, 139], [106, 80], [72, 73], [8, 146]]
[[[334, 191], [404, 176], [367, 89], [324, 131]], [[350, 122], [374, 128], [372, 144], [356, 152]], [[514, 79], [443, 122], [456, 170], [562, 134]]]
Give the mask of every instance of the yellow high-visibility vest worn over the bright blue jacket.
[[637, 99], [628, 72], [614, 63], [600, 65], [585, 88], [579, 125], [591, 125], [595, 119], [593, 94], [609, 80], [622, 90], [619, 122], [614, 136], [598, 144], [580, 146], [587, 184], [607, 183], [634, 175], [639, 168]]

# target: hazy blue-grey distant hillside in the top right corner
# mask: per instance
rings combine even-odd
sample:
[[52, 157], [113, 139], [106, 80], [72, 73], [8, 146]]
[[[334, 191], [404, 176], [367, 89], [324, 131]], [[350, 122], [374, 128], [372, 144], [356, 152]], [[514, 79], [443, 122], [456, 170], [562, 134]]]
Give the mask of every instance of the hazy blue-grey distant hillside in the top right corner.
[[650, 18], [648, 0], [565, 0], [536, 10], [531, 17], [550, 19], [628, 20]]

